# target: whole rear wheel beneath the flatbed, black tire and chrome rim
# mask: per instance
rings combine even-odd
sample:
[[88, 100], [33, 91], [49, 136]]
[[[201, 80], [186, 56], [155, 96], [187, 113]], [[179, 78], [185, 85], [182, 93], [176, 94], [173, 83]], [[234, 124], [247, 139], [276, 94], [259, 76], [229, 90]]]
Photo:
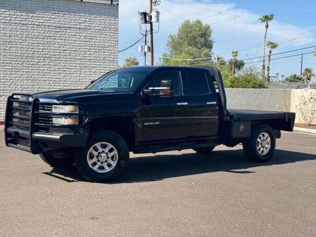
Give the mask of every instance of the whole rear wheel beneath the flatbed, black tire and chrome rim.
[[271, 126], [263, 124], [254, 129], [242, 144], [245, 156], [254, 162], [267, 162], [276, 149], [276, 136]]

